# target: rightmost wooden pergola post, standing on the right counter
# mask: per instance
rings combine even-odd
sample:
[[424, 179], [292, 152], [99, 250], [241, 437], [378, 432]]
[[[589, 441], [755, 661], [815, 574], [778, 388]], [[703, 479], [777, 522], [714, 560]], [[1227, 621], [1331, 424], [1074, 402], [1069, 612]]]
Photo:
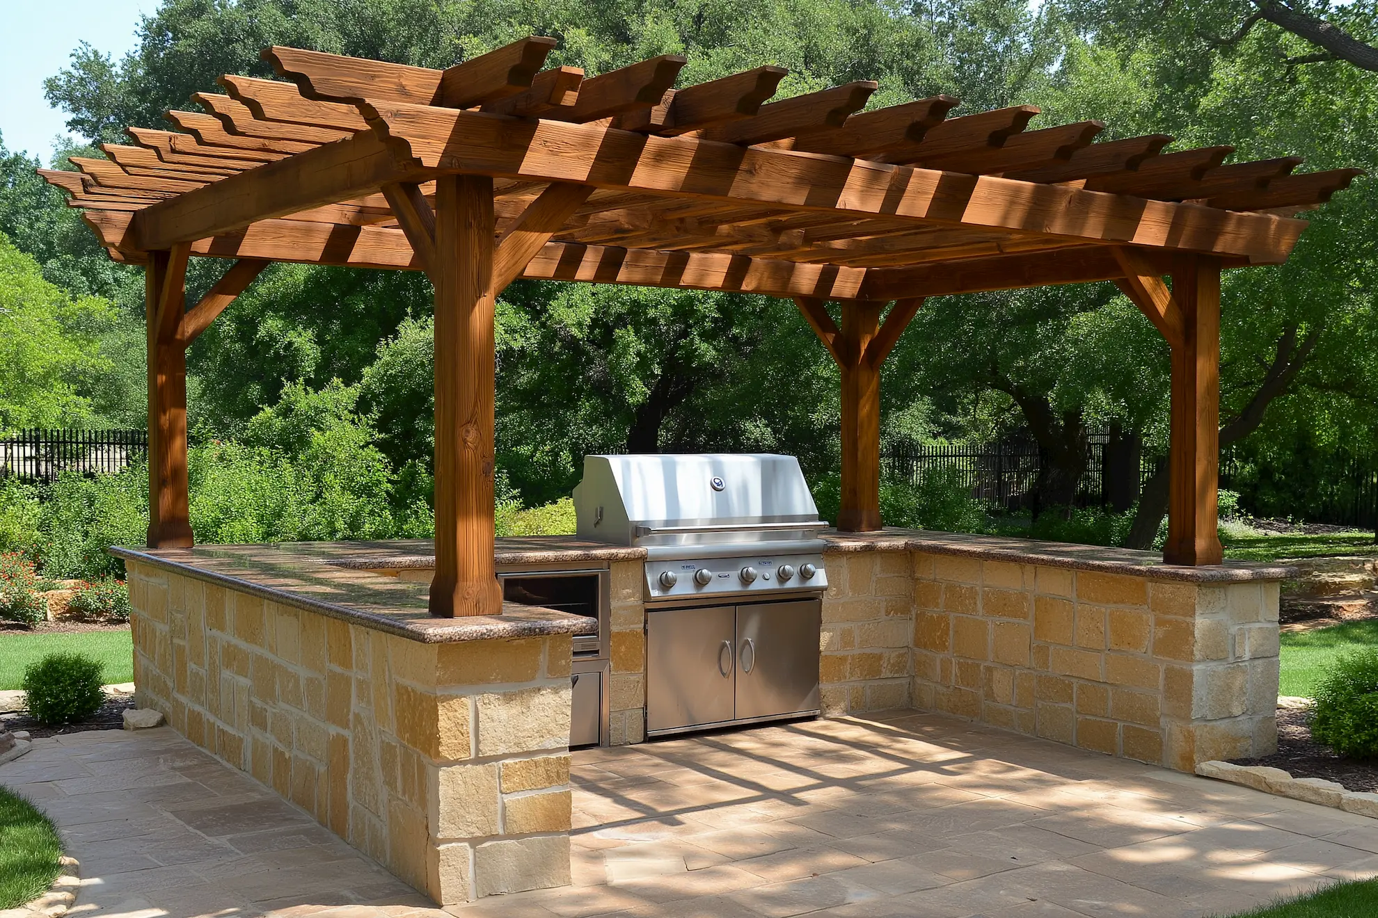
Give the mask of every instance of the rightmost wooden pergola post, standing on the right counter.
[[1181, 310], [1181, 343], [1173, 345], [1169, 454], [1169, 564], [1220, 564], [1220, 261], [1184, 260], [1173, 274]]

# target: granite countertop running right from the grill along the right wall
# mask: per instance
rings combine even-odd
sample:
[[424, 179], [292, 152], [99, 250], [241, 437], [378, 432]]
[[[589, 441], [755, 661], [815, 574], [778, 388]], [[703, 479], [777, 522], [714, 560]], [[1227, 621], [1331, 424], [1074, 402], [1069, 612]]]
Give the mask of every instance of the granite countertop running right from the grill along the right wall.
[[823, 534], [823, 538], [828, 541], [828, 551], [832, 552], [916, 551], [1196, 584], [1277, 581], [1297, 574], [1295, 567], [1286, 564], [1225, 562], [1224, 564], [1192, 567], [1189, 564], [1167, 564], [1159, 552], [1141, 552], [1131, 548], [1040, 542], [1031, 538], [933, 533], [916, 529], [885, 529], [879, 533], [828, 531]]

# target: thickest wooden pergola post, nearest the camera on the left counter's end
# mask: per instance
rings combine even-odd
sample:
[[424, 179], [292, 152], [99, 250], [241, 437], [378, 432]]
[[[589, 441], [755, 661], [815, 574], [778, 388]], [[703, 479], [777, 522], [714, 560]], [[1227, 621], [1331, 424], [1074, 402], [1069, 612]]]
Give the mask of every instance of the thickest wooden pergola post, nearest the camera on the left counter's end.
[[435, 577], [431, 615], [496, 615], [493, 180], [435, 182]]

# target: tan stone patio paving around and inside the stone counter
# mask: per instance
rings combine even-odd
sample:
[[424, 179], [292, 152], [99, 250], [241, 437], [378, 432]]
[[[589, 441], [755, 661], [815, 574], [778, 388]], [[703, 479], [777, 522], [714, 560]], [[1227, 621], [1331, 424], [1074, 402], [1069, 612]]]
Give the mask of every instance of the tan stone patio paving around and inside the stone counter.
[[[1229, 914], [1378, 875], [1378, 820], [932, 714], [575, 754], [575, 885], [460, 918]], [[169, 729], [40, 740], [0, 783], [83, 867], [74, 915], [445, 918]]]

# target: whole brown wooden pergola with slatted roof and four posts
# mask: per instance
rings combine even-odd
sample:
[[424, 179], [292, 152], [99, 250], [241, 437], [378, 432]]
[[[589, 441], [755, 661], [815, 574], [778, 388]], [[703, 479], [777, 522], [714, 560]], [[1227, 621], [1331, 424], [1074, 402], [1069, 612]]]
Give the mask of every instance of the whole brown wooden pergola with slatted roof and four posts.
[[[186, 348], [270, 261], [426, 271], [435, 288], [437, 615], [500, 608], [493, 303], [517, 278], [791, 297], [842, 373], [838, 527], [881, 527], [879, 370], [926, 297], [1115, 281], [1171, 347], [1166, 560], [1213, 564], [1221, 268], [1284, 261], [1359, 169], [1225, 164], [1171, 138], [1025, 131], [1034, 106], [863, 111], [871, 81], [768, 102], [785, 70], [674, 88], [663, 55], [586, 78], [531, 37], [448, 70], [267, 48], [181, 132], [40, 171], [145, 264], [149, 545], [192, 544]], [[233, 259], [185, 304], [189, 256]], [[1171, 278], [1171, 289], [1163, 278]], [[824, 308], [841, 304], [841, 326]], [[894, 306], [885, 314], [885, 304]]]

